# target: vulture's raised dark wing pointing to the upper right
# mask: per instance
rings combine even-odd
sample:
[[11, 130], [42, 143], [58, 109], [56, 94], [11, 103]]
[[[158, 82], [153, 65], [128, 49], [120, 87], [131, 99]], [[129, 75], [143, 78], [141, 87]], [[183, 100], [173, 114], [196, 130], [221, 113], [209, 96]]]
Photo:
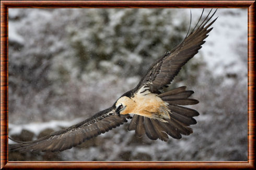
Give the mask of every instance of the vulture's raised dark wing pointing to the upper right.
[[199, 27], [192, 30], [192, 32], [184, 38], [180, 45], [166, 53], [163, 57], [159, 58], [155, 63], [152, 64], [135, 90], [139, 90], [142, 87], [149, 87], [149, 90], [152, 93], [159, 93], [159, 89], [167, 87], [171, 83], [174, 76], [179, 73], [181, 67], [198, 53], [199, 49], [205, 43], [204, 39], [208, 36], [207, 34], [213, 29], [208, 28], [215, 22], [217, 18], [211, 23], [207, 24], [216, 12], [215, 10], [213, 15], [208, 18], [211, 11], [205, 20], [199, 25]]

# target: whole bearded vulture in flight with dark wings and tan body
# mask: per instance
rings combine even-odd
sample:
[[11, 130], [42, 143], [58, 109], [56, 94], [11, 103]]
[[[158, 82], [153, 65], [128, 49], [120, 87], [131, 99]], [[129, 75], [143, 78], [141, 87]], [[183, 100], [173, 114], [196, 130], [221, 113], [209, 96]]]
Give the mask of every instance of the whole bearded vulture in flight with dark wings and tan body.
[[210, 20], [216, 10], [210, 15], [211, 10], [200, 23], [203, 11], [191, 32], [189, 27], [184, 40], [153, 63], [138, 85], [124, 93], [113, 106], [83, 122], [34, 141], [16, 141], [10, 138], [17, 144], [9, 145], [9, 149], [21, 152], [63, 151], [108, 132], [127, 122], [127, 119], [131, 119], [128, 130], [135, 130], [138, 137], [146, 134], [152, 140], [167, 141], [168, 136], [180, 139], [181, 135], [193, 133], [190, 125], [196, 124], [193, 117], [199, 113], [183, 106], [199, 103], [189, 98], [194, 91], [186, 90], [185, 86], [166, 92], [162, 92], [162, 88], [168, 87], [181, 67], [198, 53], [207, 34], [213, 29], [210, 26], [217, 18], [212, 22]]

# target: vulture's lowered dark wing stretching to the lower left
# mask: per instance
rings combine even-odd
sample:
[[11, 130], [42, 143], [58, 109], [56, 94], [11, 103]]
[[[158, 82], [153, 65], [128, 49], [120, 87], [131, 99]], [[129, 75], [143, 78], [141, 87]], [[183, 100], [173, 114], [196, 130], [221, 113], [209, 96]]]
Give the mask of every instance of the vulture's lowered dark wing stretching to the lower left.
[[49, 136], [28, 142], [16, 141], [18, 144], [9, 145], [8, 147], [10, 150], [19, 150], [21, 152], [63, 151], [120, 126], [127, 122], [126, 118], [128, 117], [129, 115], [117, 115], [114, 108], [111, 107], [98, 112], [83, 122], [51, 133]]

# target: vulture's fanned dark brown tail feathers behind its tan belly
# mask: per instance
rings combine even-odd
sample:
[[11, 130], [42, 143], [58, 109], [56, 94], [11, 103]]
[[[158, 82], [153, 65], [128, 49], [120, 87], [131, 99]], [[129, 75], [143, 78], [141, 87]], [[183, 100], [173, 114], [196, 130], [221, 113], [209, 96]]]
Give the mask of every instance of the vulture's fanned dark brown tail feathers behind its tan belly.
[[142, 137], [146, 133], [152, 140], [159, 138], [163, 141], [168, 140], [168, 135], [180, 139], [181, 135], [193, 133], [192, 128], [189, 126], [196, 124], [193, 116], [198, 116], [199, 113], [196, 110], [180, 105], [197, 104], [199, 101], [189, 99], [194, 91], [185, 90], [185, 88], [185, 86], [182, 86], [158, 95], [158, 97], [168, 103], [170, 119], [166, 119], [163, 122], [135, 114], [128, 129], [135, 130], [138, 137]]

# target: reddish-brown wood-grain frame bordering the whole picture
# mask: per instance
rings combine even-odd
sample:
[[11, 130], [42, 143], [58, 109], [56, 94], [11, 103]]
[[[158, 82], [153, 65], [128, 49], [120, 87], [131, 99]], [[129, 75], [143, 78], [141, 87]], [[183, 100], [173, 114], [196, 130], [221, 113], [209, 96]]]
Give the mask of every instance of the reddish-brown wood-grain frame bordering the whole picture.
[[[8, 8], [248, 8], [248, 161], [245, 162], [13, 162], [8, 161]], [[255, 168], [255, 1], [1, 1], [1, 169]]]

